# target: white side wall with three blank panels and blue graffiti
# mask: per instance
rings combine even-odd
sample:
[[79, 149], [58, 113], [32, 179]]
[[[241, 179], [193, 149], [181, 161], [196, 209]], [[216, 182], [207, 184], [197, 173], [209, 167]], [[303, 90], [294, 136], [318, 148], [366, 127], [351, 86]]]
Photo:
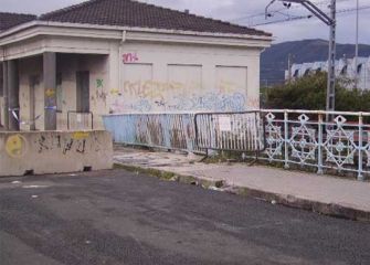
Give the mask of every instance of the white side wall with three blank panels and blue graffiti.
[[244, 110], [260, 102], [260, 51], [125, 43], [109, 113]]

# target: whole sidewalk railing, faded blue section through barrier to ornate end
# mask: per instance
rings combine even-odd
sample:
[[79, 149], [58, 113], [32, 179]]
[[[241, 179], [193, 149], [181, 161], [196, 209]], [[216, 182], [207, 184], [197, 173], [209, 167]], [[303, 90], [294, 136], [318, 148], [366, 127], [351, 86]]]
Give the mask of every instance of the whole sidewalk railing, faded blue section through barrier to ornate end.
[[[116, 142], [207, 153], [257, 151], [258, 159], [370, 177], [370, 113], [260, 109], [104, 116]], [[258, 144], [260, 141], [260, 144]], [[247, 155], [249, 156], [249, 155]]]

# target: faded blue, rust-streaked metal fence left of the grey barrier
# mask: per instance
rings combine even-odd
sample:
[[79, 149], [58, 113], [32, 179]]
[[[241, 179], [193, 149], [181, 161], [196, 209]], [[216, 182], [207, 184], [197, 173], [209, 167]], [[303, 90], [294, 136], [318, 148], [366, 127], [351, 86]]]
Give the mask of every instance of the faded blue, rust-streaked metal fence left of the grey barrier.
[[115, 142], [204, 152], [195, 146], [194, 113], [107, 115], [103, 120]]

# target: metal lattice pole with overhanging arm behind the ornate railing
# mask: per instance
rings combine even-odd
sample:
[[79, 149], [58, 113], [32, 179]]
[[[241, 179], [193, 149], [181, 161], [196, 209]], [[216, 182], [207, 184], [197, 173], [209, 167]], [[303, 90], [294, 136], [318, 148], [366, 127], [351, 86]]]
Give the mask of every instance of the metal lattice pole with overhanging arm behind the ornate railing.
[[[300, 3], [319, 20], [330, 26], [330, 40], [329, 40], [329, 57], [328, 57], [328, 85], [327, 85], [327, 96], [326, 96], [326, 110], [335, 110], [336, 100], [336, 12], [337, 12], [337, 1], [330, 1], [330, 17], [327, 15], [323, 10], [308, 0], [272, 0], [266, 9], [266, 19], [272, 17], [268, 12], [268, 8], [275, 2], [281, 1], [285, 7], [289, 8], [290, 3]], [[287, 2], [289, 4], [287, 4]], [[328, 118], [327, 118], [328, 119]]]

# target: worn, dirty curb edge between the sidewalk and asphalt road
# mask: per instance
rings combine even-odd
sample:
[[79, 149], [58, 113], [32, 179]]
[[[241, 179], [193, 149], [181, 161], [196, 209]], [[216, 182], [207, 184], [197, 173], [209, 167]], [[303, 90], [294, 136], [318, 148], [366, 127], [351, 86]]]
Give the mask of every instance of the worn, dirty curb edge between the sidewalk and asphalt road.
[[343, 206], [336, 203], [324, 203], [318, 201], [311, 201], [307, 199], [300, 199], [294, 195], [267, 192], [246, 187], [230, 187], [223, 180], [213, 180], [205, 177], [200, 178], [194, 176], [179, 174], [176, 172], [155, 168], [142, 168], [139, 166], [124, 165], [118, 162], [114, 163], [114, 168], [124, 169], [130, 172], [146, 173], [165, 181], [177, 181], [180, 183], [199, 186], [208, 190], [218, 190], [236, 195], [264, 200], [273, 204], [281, 204], [289, 208], [302, 209], [334, 218], [370, 222], [370, 212], [353, 209], [350, 206]]

